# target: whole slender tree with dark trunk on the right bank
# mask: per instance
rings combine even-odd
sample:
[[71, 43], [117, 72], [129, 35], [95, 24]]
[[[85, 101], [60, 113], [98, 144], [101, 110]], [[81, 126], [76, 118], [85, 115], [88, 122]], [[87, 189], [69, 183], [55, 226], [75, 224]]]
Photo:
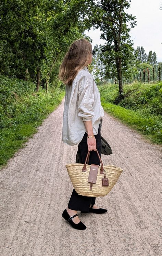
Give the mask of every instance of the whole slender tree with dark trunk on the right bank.
[[[106, 40], [104, 51], [115, 60], [117, 79], [119, 81], [119, 99], [123, 98], [122, 68], [128, 63], [125, 55], [133, 57], [133, 43], [129, 31], [136, 25], [136, 17], [126, 10], [130, 2], [126, 0], [101, 0], [92, 9], [91, 22], [94, 28], [100, 28], [101, 38]], [[128, 27], [128, 24], [130, 27]]]

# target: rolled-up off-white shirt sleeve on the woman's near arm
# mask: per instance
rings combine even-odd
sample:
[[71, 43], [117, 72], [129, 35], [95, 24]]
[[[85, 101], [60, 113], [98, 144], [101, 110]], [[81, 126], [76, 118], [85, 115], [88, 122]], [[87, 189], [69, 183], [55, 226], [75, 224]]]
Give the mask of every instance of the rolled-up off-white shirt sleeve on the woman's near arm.
[[84, 78], [84, 89], [79, 94], [78, 100], [78, 116], [83, 117], [83, 121], [92, 121], [95, 115], [93, 109], [94, 103], [94, 90], [93, 90], [93, 78]]

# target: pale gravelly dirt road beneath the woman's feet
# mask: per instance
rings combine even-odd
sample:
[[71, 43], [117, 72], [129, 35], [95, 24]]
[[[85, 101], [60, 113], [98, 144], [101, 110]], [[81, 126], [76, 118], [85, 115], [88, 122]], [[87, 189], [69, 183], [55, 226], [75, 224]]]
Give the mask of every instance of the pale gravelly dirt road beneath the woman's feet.
[[62, 142], [63, 106], [0, 170], [0, 256], [162, 255], [162, 147], [106, 113], [101, 134], [113, 154], [102, 161], [123, 168], [112, 191], [96, 198], [108, 212], [78, 211], [84, 231], [62, 218], [73, 190], [65, 164], [77, 151]]

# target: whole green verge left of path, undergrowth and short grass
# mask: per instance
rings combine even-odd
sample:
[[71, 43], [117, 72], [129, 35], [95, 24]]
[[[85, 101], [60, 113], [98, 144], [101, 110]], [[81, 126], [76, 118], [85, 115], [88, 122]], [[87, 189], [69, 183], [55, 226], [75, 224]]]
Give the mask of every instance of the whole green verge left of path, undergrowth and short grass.
[[0, 77], [0, 168], [24, 147], [37, 127], [61, 103], [65, 91], [39, 88], [18, 79]]

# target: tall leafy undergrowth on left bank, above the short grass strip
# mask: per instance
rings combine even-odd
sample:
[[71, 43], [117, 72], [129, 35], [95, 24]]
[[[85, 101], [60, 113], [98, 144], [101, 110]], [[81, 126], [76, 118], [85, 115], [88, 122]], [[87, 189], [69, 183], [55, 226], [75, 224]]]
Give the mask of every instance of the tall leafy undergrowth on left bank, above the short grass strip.
[[3, 76], [0, 77], [0, 85], [0, 129], [40, 120], [61, 92], [59, 88], [50, 88], [46, 95], [42, 88], [36, 92], [32, 82]]

